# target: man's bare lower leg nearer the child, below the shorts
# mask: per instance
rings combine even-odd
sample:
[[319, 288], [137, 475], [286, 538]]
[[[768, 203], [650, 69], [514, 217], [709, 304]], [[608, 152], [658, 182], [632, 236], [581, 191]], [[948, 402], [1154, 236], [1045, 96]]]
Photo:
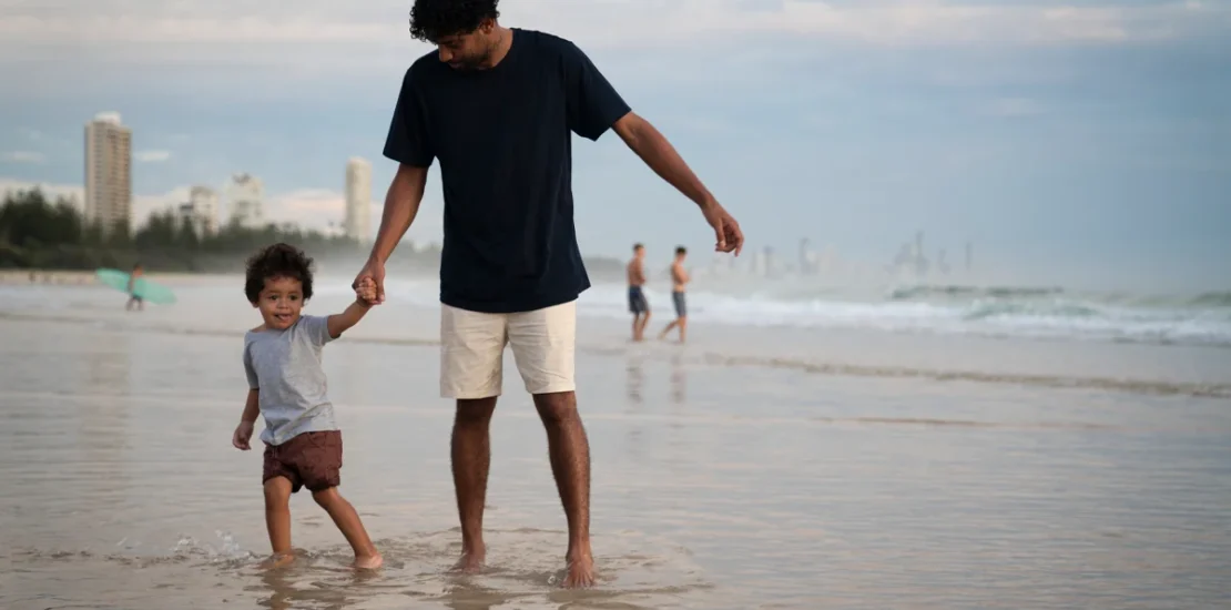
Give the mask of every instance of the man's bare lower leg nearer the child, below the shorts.
[[458, 569], [474, 572], [483, 567], [487, 547], [483, 542], [483, 506], [487, 500], [487, 472], [491, 468], [491, 414], [496, 397], [458, 401], [449, 444], [453, 462], [453, 488], [462, 521], [462, 559]]

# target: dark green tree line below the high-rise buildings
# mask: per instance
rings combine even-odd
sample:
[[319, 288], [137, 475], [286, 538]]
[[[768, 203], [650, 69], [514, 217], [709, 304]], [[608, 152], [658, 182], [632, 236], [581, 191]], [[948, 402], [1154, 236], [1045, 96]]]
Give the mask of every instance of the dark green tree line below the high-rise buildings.
[[92, 270], [140, 261], [151, 270], [228, 271], [243, 265], [257, 248], [276, 242], [303, 248], [314, 258], [366, 255], [350, 238], [292, 224], [249, 228], [233, 222], [202, 234], [171, 209], [151, 214], [135, 233], [127, 222], [103, 230], [71, 200], [52, 200], [38, 189], [9, 192], [0, 206], [0, 267], [9, 269]]

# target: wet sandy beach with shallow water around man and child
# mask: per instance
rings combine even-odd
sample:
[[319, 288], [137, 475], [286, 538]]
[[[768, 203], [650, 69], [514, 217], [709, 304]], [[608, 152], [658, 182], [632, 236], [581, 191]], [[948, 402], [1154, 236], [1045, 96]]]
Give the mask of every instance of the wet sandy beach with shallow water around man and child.
[[[604, 287], [577, 360], [599, 587], [555, 587], [563, 513], [508, 375], [490, 569], [448, 574], [452, 409], [411, 282], [326, 349], [342, 492], [387, 567], [347, 571], [295, 497], [303, 561], [262, 572], [260, 453], [230, 447], [255, 314], [234, 279], [169, 283], [180, 302], [142, 314], [0, 290], [0, 606], [1208, 609], [1231, 582], [1231, 350], [700, 313], [687, 346], [632, 345]], [[343, 302], [326, 283], [309, 311]]]

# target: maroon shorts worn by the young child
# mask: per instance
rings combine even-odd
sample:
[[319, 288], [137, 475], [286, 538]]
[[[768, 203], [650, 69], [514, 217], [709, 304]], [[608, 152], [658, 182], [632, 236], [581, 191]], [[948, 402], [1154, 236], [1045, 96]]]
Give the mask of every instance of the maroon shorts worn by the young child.
[[291, 481], [291, 493], [300, 487], [320, 492], [341, 484], [342, 433], [304, 433], [282, 445], [265, 445], [261, 484], [273, 477]]

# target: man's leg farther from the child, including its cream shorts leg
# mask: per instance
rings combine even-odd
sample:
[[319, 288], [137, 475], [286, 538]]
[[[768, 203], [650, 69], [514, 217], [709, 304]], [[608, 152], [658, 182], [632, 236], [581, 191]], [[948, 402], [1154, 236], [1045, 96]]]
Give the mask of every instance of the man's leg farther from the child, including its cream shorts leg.
[[564, 587], [590, 587], [595, 561], [590, 548], [590, 442], [577, 415], [574, 355], [576, 302], [508, 318], [508, 343], [526, 391], [547, 430], [551, 473], [569, 523]]

